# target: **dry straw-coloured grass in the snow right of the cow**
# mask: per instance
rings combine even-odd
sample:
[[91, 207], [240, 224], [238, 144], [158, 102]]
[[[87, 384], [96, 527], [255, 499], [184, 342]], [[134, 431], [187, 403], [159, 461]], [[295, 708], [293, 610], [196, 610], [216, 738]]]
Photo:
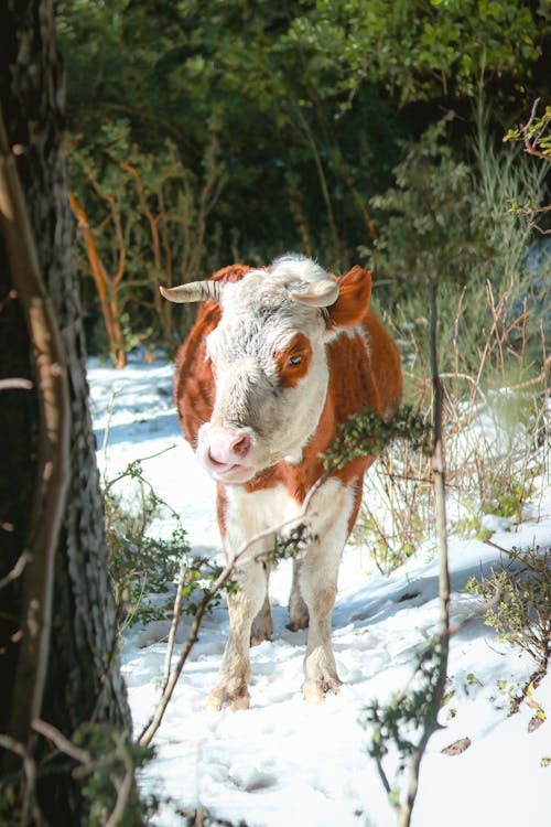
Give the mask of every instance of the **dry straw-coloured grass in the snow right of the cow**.
[[[446, 482], [452, 530], [482, 535], [485, 514], [519, 522], [537, 483], [549, 483], [551, 356], [526, 300], [519, 312], [518, 298], [495, 296], [488, 282], [474, 329], [466, 299], [458, 293], [440, 332]], [[426, 322], [401, 308], [386, 322], [404, 354], [406, 400], [430, 411]], [[433, 545], [433, 514], [430, 459], [395, 442], [368, 475], [354, 540], [388, 572]]]

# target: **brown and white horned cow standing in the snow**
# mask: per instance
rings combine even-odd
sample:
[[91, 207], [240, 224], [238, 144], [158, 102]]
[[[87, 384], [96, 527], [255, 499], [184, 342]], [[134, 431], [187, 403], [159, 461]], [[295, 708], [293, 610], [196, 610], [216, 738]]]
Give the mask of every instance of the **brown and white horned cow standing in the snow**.
[[[339, 278], [311, 258], [270, 267], [234, 265], [206, 281], [162, 288], [175, 302], [204, 302], [176, 362], [175, 399], [186, 439], [217, 482], [226, 555], [264, 536], [237, 561], [229, 635], [208, 707], [246, 709], [249, 646], [271, 635], [270, 528], [301, 514], [324, 474], [321, 454], [350, 415], [391, 416], [401, 398], [400, 355], [370, 308], [371, 277]], [[331, 473], [309, 502], [311, 527], [293, 574], [291, 627], [307, 625], [303, 695], [337, 692], [331, 616], [342, 551], [372, 457]]]

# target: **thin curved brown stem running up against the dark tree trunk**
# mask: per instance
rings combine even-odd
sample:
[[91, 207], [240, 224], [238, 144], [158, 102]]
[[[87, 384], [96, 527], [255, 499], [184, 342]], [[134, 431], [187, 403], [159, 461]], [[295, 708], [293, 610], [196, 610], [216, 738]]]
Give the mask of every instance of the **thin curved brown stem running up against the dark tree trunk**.
[[[55, 549], [68, 479], [68, 388], [65, 357], [44, 282], [39, 271], [15, 159], [0, 107], [0, 233], [6, 267], [32, 345], [37, 389], [37, 450], [34, 496], [21, 570], [21, 603], [26, 608], [20, 630], [11, 735], [31, 749], [32, 721], [40, 716], [50, 654], [52, 584]], [[12, 569], [13, 571], [13, 569]], [[10, 582], [15, 578], [11, 577]]]

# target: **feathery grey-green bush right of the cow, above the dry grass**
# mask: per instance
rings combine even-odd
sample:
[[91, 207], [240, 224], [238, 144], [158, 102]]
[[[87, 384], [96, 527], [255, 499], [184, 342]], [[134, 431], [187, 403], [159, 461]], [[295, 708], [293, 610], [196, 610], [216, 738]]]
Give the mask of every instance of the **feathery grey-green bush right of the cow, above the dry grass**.
[[376, 248], [359, 250], [375, 270], [376, 298], [398, 305], [406, 358], [428, 362], [428, 291], [436, 279], [440, 340], [455, 345], [441, 348], [443, 372], [476, 375], [488, 337], [493, 358], [485, 359], [484, 385], [504, 384], [504, 363], [510, 372], [519, 361], [522, 369], [541, 364], [551, 258], [536, 256], [534, 271], [531, 245], [540, 236], [508, 205], [542, 203], [547, 168], [517, 147], [497, 150], [482, 104], [467, 153], [454, 149], [451, 117], [401, 146], [395, 185], [371, 200], [385, 216]]

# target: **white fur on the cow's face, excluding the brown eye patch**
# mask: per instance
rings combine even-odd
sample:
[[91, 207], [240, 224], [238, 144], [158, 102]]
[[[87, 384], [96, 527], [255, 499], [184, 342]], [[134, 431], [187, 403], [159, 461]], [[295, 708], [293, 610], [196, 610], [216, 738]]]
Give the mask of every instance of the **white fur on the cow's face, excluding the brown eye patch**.
[[[284, 258], [269, 272], [252, 270], [224, 287], [223, 316], [207, 337], [216, 400], [210, 422], [199, 430], [197, 450], [222, 482], [246, 482], [285, 458], [300, 462], [317, 426], [328, 383], [326, 325], [322, 310], [293, 300], [290, 290], [304, 283], [305, 276], [315, 280], [320, 273], [322, 268], [310, 259]], [[300, 373], [296, 380], [283, 384], [277, 354], [296, 334], [302, 334], [301, 341], [306, 337], [312, 357], [303, 374], [305, 354], [291, 352], [285, 369]], [[236, 443], [247, 443], [246, 452], [233, 453], [229, 431], [246, 437], [246, 442]], [[210, 451], [214, 436], [217, 450]], [[220, 448], [224, 439], [227, 445]]]

